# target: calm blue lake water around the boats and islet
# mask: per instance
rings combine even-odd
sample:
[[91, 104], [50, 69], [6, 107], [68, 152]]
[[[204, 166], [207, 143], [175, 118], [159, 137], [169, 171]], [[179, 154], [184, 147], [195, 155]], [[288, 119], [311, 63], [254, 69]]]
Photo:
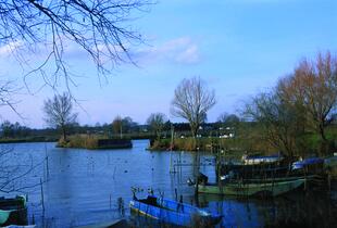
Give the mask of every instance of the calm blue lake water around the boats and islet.
[[[38, 227], [76, 227], [118, 218], [139, 225], [137, 217], [129, 213], [132, 187], [143, 189], [138, 198], [152, 188], [157, 194], [162, 192], [165, 198], [175, 199], [177, 189], [184, 202], [196, 204], [194, 189], [186, 183], [194, 174], [194, 153], [174, 152], [173, 160], [180, 160], [184, 166], [182, 173], [170, 174], [170, 153], [147, 151], [148, 143], [148, 140], [135, 140], [133, 149], [103, 151], [59, 149], [54, 143], [1, 147], [13, 150], [7, 162], [16, 167], [17, 174], [35, 167], [15, 181], [15, 187], [23, 187], [22, 192], [28, 194], [29, 221]], [[201, 155], [204, 164], [201, 172], [214, 180], [210, 159], [209, 154]], [[124, 201], [124, 211], [120, 210], [120, 198]], [[200, 194], [198, 201], [199, 206], [224, 215], [219, 227], [322, 228], [337, 224], [334, 189], [330, 192], [299, 191], [269, 200]], [[149, 226], [160, 225], [150, 223]]]

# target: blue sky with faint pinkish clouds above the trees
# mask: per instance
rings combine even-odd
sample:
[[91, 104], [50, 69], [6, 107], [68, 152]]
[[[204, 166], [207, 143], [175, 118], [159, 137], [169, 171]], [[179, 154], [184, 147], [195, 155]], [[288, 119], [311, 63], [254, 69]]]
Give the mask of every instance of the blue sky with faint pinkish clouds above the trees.
[[[132, 25], [147, 40], [132, 49], [138, 67], [121, 65], [100, 81], [85, 54], [70, 59], [80, 75], [73, 88], [80, 124], [111, 123], [116, 115], [142, 124], [153, 112], [182, 121], [170, 114], [170, 104], [179, 81], [192, 76], [215, 90], [217, 103], [208, 115], [213, 122], [275, 85], [301, 58], [337, 53], [335, 0], [161, 0]], [[2, 50], [0, 76], [22, 85], [23, 72]], [[41, 107], [52, 94], [48, 88], [35, 94], [24, 90], [16, 106], [25, 119], [8, 107], [1, 107], [1, 118], [45, 127]]]

